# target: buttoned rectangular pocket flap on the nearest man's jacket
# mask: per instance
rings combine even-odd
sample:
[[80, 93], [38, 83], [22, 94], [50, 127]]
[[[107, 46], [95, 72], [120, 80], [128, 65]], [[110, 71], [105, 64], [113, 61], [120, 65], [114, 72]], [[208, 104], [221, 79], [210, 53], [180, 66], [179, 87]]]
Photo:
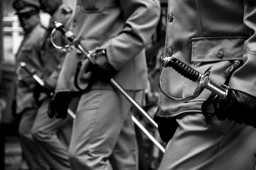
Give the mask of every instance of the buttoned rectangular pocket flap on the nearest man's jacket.
[[192, 62], [242, 60], [245, 37], [192, 38]]

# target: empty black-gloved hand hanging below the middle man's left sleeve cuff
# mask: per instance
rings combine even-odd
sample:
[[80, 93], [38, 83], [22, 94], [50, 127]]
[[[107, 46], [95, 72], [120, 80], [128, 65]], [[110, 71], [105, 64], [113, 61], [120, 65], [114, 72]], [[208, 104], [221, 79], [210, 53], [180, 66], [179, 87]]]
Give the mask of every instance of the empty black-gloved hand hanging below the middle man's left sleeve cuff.
[[66, 118], [68, 105], [71, 102], [72, 96], [70, 92], [56, 92], [53, 94], [48, 105], [47, 114], [49, 118]]

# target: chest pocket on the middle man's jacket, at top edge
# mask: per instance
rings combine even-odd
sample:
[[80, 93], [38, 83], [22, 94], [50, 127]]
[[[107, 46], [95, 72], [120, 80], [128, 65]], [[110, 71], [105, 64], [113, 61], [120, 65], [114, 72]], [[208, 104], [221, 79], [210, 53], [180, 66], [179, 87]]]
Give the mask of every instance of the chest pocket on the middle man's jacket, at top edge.
[[83, 0], [81, 5], [86, 12], [99, 12], [104, 9], [105, 0]]

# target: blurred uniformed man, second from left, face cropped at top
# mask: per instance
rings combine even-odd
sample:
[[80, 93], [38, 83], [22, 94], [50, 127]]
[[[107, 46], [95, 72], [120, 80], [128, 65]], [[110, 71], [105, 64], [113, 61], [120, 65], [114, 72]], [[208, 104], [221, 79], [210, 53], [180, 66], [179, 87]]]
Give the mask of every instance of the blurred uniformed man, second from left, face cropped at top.
[[[55, 21], [67, 25], [68, 20], [72, 16], [72, 10], [65, 6], [61, 0], [40, 0], [39, 3], [41, 9], [51, 15], [51, 19], [49, 21], [49, 27], [42, 38], [41, 52], [42, 62], [44, 64], [44, 81], [47, 87], [38, 85], [35, 89], [35, 96], [40, 96], [40, 93], [41, 95], [44, 93], [49, 94], [56, 86], [65, 53], [56, 50], [54, 46], [52, 46], [50, 36]], [[53, 39], [54, 42], [60, 46], [67, 43], [61, 34], [54, 34]], [[40, 101], [40, 107], [38, 108], [32, 129], [33, 137], [38, 143], [40, 151], [51, 169], [70, 169], [68, 162], [68, 145], [72, 131], [72, 120], [71, 118], [65, 120], [49, 118], [47, 108], [50, 99], [51, 97], [47, 97], [47, 99]], [[60, 135], [60, 133], [62, 135]]]

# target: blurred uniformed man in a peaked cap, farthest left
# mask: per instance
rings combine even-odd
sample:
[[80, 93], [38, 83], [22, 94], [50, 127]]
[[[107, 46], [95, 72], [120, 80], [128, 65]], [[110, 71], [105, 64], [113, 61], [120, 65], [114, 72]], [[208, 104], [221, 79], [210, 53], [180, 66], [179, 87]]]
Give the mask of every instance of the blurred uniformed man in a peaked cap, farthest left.
[[[17, 67], [19, 62], [26, 62], [29, 66], [33, 67], [36, 73], [40, 74], [42, 73], [43, 66], [40, 54], [40, 39], [45, 31], [40, 24], [40, 6], [37, 1], [17, 0], [14, 1], [13, 8], [17, 11], [16, 14], [19, 17], [20, 25], [24, 30], [24, 39], [16, 54]], [[16, 113], [21, 117], [19, 139], [24, 158], [29, 169], [47, 169], [31, 134], [38, 108], [33, 98], [32, 90], [35, 87], [35, 81], [32, 78], [26, 77], [26, 79], [21, 81], [17, 80], [16, 86]]]

